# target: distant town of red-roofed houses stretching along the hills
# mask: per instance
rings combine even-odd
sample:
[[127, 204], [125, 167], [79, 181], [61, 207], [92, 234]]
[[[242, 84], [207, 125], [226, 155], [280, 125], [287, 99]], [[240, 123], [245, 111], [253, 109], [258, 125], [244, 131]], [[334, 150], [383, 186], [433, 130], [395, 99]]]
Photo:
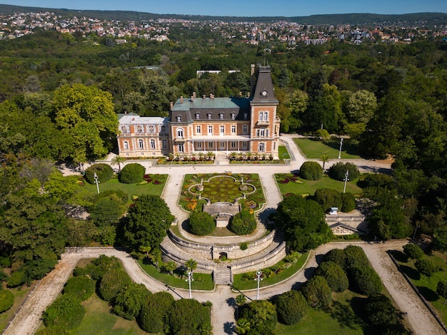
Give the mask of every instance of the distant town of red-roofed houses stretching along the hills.
[[[81, 13], [81, 12], [80, 12]], [[184, 28], [206, 28], [218, 32], [228, 42], [240, 41], [256, 45], [260, 42], [287, 43], [293, 48], [298, 42], [306, 45], [323, 44], [332, 39], [360, 44], [362, 41], [382, 41], [383, 43], [411, 43], [416, 38], [447, 38], [447, 24], [438, 24], [428, 29], [423, 23], [381, 22], [371, 26], [306, 25], [280, 21], [219, 21], [193, 19], [150, 19], [144, 21], [101, 20], [87, 16], [64, 17], [51, 11], [18, 12], [0, 14], [0, 39], [19, 38], [36, 29], [55, 29], [61, 33], [79, 33], [83, 36], [110, 36], [116, 43], [127, 43], [129, 38], [146, 38], [168, 41], [169, 28], [176, 24]], [[249, 19], [249, 18], [246, 18]]]

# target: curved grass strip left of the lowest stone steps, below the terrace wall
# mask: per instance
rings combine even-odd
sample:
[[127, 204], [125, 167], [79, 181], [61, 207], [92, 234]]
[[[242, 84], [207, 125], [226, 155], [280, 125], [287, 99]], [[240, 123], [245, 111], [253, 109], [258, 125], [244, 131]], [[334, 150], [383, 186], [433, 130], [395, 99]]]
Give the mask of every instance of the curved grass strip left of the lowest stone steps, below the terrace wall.
[[[144, 272], [157, 279], [159, 282], [168, 284], [171, 287], [179, 287], [179, 289], [188, 289], [189, 283], [186, 282], [186, 276], [184, 276], [184, 278], [176, 278], [171, 276], [171, 274], [159, 272], [159, 270], [157, 270], [152, 264], [145, 264], [142, 260], [139, 260], [138, 262]], [[177, 273], [179, 274], [180, 272]], [[194, 272], [194, 282], [191, 282], [191, 289], [212, 291], [214, 289], [213, 277], [211, 274]]]

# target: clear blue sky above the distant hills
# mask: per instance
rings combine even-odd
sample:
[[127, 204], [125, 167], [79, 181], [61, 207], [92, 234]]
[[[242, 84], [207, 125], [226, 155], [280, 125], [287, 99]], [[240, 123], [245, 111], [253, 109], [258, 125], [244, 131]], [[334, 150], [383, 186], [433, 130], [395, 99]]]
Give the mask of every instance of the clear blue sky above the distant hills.
[[66, 9], [144, 11], [215, 16], [447, 13], [447, 0], [0, 0], [1, 4]]

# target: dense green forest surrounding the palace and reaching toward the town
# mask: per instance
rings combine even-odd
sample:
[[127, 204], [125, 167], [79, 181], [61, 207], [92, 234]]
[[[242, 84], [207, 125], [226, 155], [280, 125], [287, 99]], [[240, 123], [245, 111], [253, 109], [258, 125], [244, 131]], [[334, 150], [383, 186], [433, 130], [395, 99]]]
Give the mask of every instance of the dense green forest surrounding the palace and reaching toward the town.
[[[407, 237], [420, 227], [446, 245], [446, 42], [251, 46], [181, 24], [169, 38], [116, 44], [36, 31], [0, 41], [2, 266], [39, 278], [65, 245], [93, 236], [91, 224], [65, 212], [94, 200], [51, 162], [103, 157], [115, 144], [116, 113], [167, 115], [171, 101], [193, 92], [247, 95], [251, 63], [271, 66], [283, 133], [323, 128], [347, 135], [366, 158], [395, 159], [392, 177], [366, 180], [376, 236]], [[221, 73], [198, 78], [198, 70]]]

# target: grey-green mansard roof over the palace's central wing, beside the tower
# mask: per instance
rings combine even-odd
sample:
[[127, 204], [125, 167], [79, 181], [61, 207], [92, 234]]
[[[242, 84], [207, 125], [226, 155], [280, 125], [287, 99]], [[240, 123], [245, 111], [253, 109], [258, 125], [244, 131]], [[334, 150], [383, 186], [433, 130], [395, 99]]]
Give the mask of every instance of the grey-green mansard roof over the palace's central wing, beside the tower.
[[[196, 117], [199, 113], [199, 118]], [[211, 113], [211, 119], [208, 116]], [[221, 118], [220, 114], [223, 113]], [[250, 119], [249, 98], [184, 98], [178, 99], [171, 108], [171, 122], [176, 123], [177, 115], [181, 115], [181, 123], [194, 120], [232, 120], [231, 113], [235, 113], [235, 120]], [[247, 113], [247, 118], [244, 118]]]

